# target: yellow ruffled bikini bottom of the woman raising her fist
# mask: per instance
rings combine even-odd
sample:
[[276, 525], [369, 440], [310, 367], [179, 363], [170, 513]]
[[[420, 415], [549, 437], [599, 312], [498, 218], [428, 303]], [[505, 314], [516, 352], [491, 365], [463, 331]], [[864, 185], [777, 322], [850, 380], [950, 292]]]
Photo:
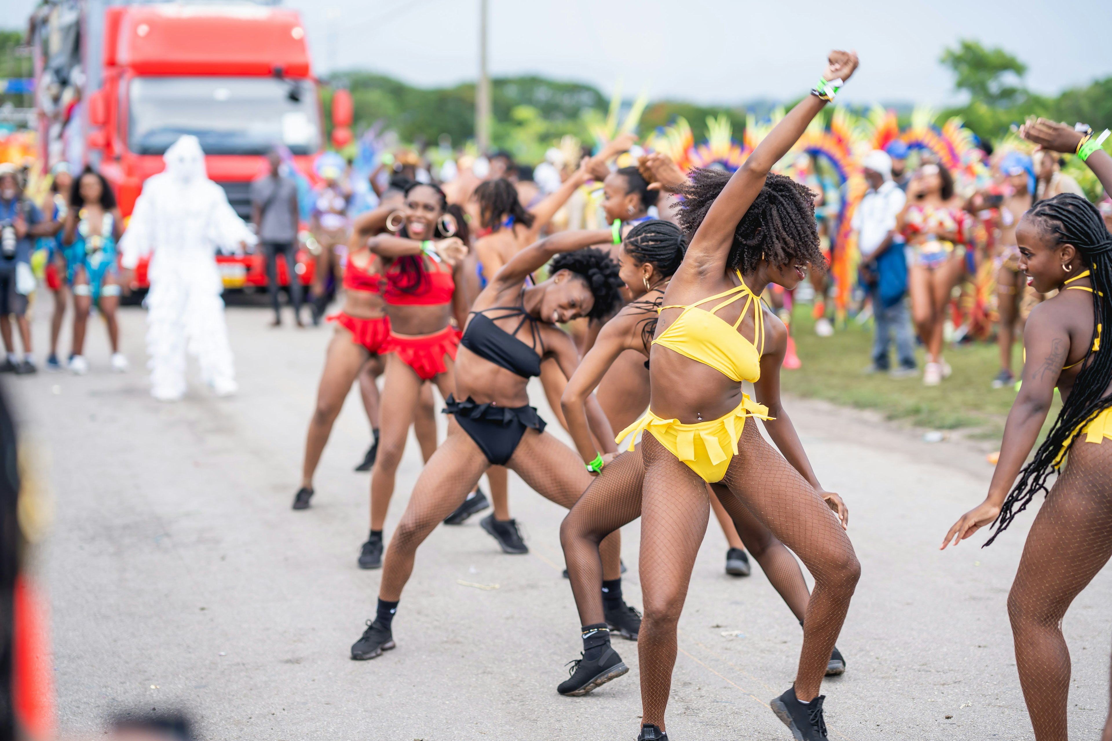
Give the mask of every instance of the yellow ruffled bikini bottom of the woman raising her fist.
[[746, 417], [772, 419], [767, 407], [743, 393], [742, 403], [734, 411], [716, 420], [694, 424], [684, 424], [676, 419], [662, 419], [649, 409], [644, 417], [622, 430], [614, 441], [622, 442], [626, 435], [631, 435], [628, 449], [633, 450], [636, 433], [647, 430], [704, 481], [715, 483], [726, 475], [729, 461], [737, 454], [737, 439], [745, 429]]

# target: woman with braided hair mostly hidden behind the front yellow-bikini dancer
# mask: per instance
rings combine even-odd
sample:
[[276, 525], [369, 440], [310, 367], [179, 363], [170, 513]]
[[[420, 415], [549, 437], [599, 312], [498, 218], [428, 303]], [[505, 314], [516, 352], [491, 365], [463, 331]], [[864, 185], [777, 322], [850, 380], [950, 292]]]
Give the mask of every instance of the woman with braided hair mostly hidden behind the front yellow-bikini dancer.
[[[609, 631], [617, 631], [625, 638], [637, 638], [636, 631], [631, 634], [626, 628], [632, 621], [622, 610], [620, 580], [608, 580], [602, 572], [598, 543], [610, 532], [641, 517], [645, 467], [639, 449], [624, 452], [617, 458], [603, 455], [595, 459], [585, 404], [599, 380], [609, 372], [610, 363], [620, 353], [634, 350], [643, 359], [648, 357], [656, 330], [657, 311], [663, 303], [668, 280], [683, 261], [684, 247], [683, 232], [667, 221], [647, 221], [629, 231], [623, 242], [619, 274], [635, 298], [614, 319], [606, 322], [564, 391], [564, 414], [572, 438], [585, 462], [592, 459], [596, 461], [592, 468], [597, 478], [560, 525], [560, 542], [564, 545], [572, 591], [579, 609], [583, 638], [583, 657], [573, 662], [570, 677], [557, 689], [560, 694], [586, 694], [627, 671], [622, 658], [610, 649]], [[757, 394], [774, 408], [780, 407], [778, 387], [778, 372], [756, 382]], [[786, 418], [784, 423], [791, 425]], [[590, 462], [587, 464], [592, 465]], [[718, 502], [719, 507], [725, 508], [731, 530], [736, 528], [734, 537], [741, 533], [742, 542], [753, 551], [768, 575], [768, 581], [784, 598], [802, 625], [808, 593], [795, 557], [776, 540], [768, 528], [753, 517], [739, 499], [721, 484], [712, 484], [712, 488], [715, 494], [712, 502]], [[602, 594], [598, 592], [599, 581], [603, 583]], [[637, 627], [639, 628], [639, 620]], [[841, 674], [843, 671], [845, 660], [834, 649], [826, 673]]]

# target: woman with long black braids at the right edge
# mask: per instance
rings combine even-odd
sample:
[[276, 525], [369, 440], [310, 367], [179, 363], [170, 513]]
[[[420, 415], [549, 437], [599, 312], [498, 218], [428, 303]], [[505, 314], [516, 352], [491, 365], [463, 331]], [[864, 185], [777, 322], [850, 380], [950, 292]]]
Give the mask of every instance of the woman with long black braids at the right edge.
[[[1106, 130], [1098, 138], [1039, 119], [1021, 134], [1043, 149], [1079, 154], [1112, 189], [1112, 158], [1100, 148]], [[1027, 284], [1041, 293], [1058, 289], [1058, 294], [1027, 318], [1023, 384], [1007, 414], [989, 495], [954, 523], [942, 548], [995, 523], [987, 545], [1039, 492], [1046, 494], [1023, 547], [1007, 614], [1035, 739], [1065, 741], [1070, 651], [1062, 618], [1112, 555], [1112, 445], [1102, 444], [1112, 437], [1112, 352], [1102, 337], [1112, 327], [1112, 234], [1092, 203], [1062, 193], [1035, 203], [1015, 237]], [[1062, 409], [1024, 464], [1055, 387]], [[1058, 480], [1048, 490], [1055, 470]], [[1112, 740], [1112, 717], [1102, 738]]]

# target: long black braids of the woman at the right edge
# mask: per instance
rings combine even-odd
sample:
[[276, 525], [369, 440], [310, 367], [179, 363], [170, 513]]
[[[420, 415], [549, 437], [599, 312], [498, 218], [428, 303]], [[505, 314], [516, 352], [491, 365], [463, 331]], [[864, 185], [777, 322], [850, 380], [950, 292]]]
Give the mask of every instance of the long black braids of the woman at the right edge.
[[1053, 237], [1055, 246], [1070, 243], [1078, 249], [1082, 263], [1091, 271], [1095, 321], [1093, 340], [1089, 342], [1081, 361], [1081, 372], [1073, 382], [1073, 390], [1034, 458], [1020, 471], [1020, 480], [1009, 492], [994, 522], [996, 532], [985, 545], [992, 543], [1015, 515], [1027, 508], [1036, 493], [1049, 493], [1046, 479], [1052, 469], [1061, 465], [1063, 445], [1090, 420], [1112, 407], [1112, 395], [1104, 395], [1112, 383], [1112, 348], [1104, 352], [1093, 351], [1093, 344], [1100, 337], [1098, 327], [1112, 327], [1112, 302], [1101, 296], [1112, 291], [1112, 234], [1109, 234], [1096, 207], [1074, 193], [1039, 201], [1023, 218], [1032, 220], [1044, 234]]

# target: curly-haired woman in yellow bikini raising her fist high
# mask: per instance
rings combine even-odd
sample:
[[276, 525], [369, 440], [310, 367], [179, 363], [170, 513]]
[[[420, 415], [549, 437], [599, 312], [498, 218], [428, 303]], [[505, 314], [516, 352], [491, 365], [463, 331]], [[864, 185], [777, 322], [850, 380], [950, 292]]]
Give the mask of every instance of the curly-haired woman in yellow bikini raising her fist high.
[[[649, 410], [619, 435], [646, 432], [641, 442], [645, 614], [637, 642], [643, 741], [667, 738], [664, 711], [676, 658], [676, 623], [706, 532], [707, 483], [719, 483], [741, 499], [815, 578], [795, 687], [770, 704], [795, 739], [826, 738], [818, 689], [860, 565], [845, 534], [841, 498], [822, 490], [784, 410], [759, 403], [778, 398], [773, 379], [787, 331], [757, 297], [772, 282], [795, 288], [808, 263], [825, 267], [813, 193], [770, 170], [856, 67], [856, 54], [831, 52], [812, 94], [784, 117], [741, 169], [732, 176], [696, 170], [683, 190], [679, 221], [692, 236], [691, 244], [665, 291], [649, 351]], [[758, 400], [743, 393], [743, 381], [762, 378], [770, 382], [762, 384]], [[783, 455], [755, 424], [746, 423], [748, 417], [767, 420]]]

